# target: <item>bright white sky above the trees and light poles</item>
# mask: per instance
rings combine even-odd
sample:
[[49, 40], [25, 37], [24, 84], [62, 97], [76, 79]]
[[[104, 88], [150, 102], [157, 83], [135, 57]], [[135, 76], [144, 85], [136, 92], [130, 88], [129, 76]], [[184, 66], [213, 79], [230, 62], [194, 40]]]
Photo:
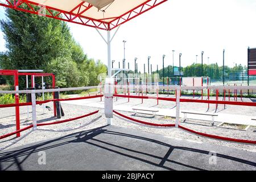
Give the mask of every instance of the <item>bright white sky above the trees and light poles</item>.
[[[5, 18], [3, 8], [0, 18]], [[153, 69], [162, 67], [162, 55], [166, 65], [172, 64], [175, 50], [175, 65], [181, 66], [201, 61], [222, 64], [222, 49], [225, 49], [226, 65], [247, 64], [247, 47], [256, 47], [256, 0], [169, 0], [166, 3], [123, 24], [112, 42], [112, 60], [123, 59], [123, 40], [126, 40], [126, 60], [134, 68], [138, 57], [139, 70], [151, 56]], [[94, 28], [69, 23], [71, 32], [89, 57], [107, 63], [106, 43]], [[106, 35], [105, 31], [101, 31]], [[0, 51], [4, 51], [0, 32]], [[122, 64], [121, 64], [122, 65]], [[126, 66], [127, 67], [127, 66]]]

